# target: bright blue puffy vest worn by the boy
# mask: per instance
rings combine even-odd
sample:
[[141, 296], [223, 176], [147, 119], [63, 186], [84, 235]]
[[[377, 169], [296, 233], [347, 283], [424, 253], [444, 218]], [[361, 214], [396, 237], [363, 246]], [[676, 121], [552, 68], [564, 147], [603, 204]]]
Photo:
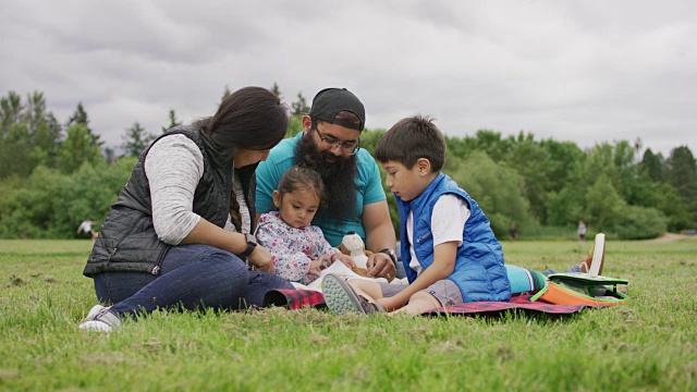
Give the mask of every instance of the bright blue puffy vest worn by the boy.
[[457, 248], [455, 269], [448, 278], [455, 282], [462, 292], [464, 302], [501, 301], [511, 298], [511, 283], [503, 262], [501, 244], [493, 235], [489, 219], [469, 195], [448, 175], [438, 176], [417, 198], [402, 201], [396, 198], [400, 208], [402, 234], [402, 262], [409, 283], [416, 279], [416, 271], [409, 267], [412, 254], [406, 235], [406, 217], [414, 212], [414, 250], [424, 269], [433, 264], [433, 235], [431, 215], [436, 201], [444, 194], [455, 194], [469, 205], [470, 216], [463, 228], [463, 243]]

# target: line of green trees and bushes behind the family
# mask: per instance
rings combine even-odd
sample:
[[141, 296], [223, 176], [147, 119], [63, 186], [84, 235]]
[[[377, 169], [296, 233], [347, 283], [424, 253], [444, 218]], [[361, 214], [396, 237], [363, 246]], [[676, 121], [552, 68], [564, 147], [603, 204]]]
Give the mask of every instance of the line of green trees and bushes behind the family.
[[[284, 100], [278, 84], [270, 90]], [[222, 98], [228, 94], [225, 87]], [[302, 131], [309, 107], [302, 93], [289, 107], [290, 137]], [[26, 100], [14, 91], [0, 98], [0, 237], [5, 238], [73, 237], [84, 219], [102, 219], [137, 157], [157, 137], [136, 121], [117, 155], [91, 130], [82, 103], [60, 123], [39, 91]], [[170, 109], [158, 134], [180, 124]], [[372, 154], [384, 132], [364, 131], [362, 148]], [[639, 140], [582, 149], [573, 142], [523, 132], [504, 137], [491, 130], [445, 142], [443, 172], [477, 200], [500, 237], [512, 223], [523, 236], [535, 236], [549, 228], [572, 230], [578, 220], [619, 238], [696, 229], [697, 164], [687, 146], [663, 157], [643, 149]], [[399, 234], [396, 203], [386, 193]]]

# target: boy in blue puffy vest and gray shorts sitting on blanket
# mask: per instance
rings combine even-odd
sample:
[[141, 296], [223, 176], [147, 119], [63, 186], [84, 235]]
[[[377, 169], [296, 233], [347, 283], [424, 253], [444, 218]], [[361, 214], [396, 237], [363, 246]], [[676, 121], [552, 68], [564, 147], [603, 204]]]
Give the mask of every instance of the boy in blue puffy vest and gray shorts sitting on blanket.
[[420, 115], [398, 122], [378, 143], [375, 157], [400, 208], [409, 285], [328, 274], [322, 292], [330, 310], [419, 315], [468, 302], [509, 301], [501, 244], [477, 203], [440, 172], [445, 142], [433, 122]]

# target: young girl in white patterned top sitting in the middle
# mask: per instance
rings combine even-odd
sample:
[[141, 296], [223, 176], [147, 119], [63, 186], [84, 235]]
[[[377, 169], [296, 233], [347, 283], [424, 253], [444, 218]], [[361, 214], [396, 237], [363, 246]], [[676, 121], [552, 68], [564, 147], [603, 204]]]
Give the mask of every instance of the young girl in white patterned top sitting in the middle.
[[329, 245], [318, 226], [309, 224], [323, 192], [325, 184], [316, 171], [293, 167], [273, 191], [273, 205], [279, 210], [259, 218], [257, 241], [271, 252], [276, 274], [291, 282], [309, 284], [338, 259], [348, 268], [355, 267], [350, 256]]

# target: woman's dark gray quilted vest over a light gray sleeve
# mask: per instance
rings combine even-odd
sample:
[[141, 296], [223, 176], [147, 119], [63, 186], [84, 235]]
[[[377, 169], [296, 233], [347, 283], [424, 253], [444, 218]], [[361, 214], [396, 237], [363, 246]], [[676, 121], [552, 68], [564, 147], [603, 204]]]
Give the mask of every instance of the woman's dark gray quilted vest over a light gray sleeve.
[[[196, 143], [204, 156], [204, 175], [194, 193], [193, 211], [224, 228], [230, 213], [232, 161], [221, 162], [211, 157], [198, 132], [197, 125], [178, 126], [159, 138], [182, 134]], [[172, 245], [161, 242], [152, 225], [150, 187], [145, 175], [145, 158], [149, 149], [140, 155], [131, 179], [107, 213], [83, 271], [87, 277], [107, 271], [152, 274], [160, 271], [160, 265]], [[237, 171], [252, 217], [255, 213], [255, 170], [256, 164], [253, 164]]]

